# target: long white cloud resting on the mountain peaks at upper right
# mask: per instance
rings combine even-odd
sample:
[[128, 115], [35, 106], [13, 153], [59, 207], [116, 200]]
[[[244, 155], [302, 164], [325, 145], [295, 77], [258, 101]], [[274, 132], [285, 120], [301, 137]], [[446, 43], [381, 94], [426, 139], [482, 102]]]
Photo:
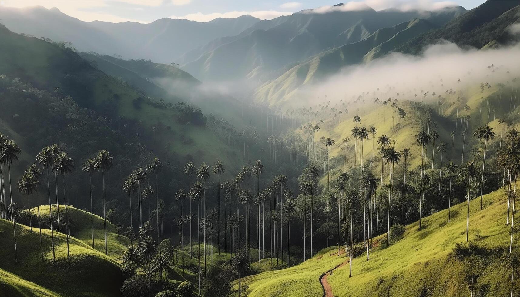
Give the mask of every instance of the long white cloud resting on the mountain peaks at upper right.
[[457, 6], [453, 1], [436, 1], [436, 0], [365, 0], [350, 1], [341, 6], [321, 6], [315, 9], [303, 11], [307, 14], [326, 14], [332, 11], [358, 11], [358, 10], [383, 10], [388, 8], [398, 9], [402, 11], [409, 10], [439, 10], [446, 7]]

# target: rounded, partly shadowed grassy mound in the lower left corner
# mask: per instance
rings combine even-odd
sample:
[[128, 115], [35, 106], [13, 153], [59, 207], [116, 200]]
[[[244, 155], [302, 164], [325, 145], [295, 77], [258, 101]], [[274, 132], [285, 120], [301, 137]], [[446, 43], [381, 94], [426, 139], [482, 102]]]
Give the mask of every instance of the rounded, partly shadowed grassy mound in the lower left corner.
[[[0, 219], [0, 279], [8, 278], [7, 296], [119, 296], [123, 275], [119, 264], [72, 237], [69, 239], [70, 264], [67, 264], [67, 241], [55, 232], [56, 265], [50, 230], [42, 229], [44, 260], [40, 253], [37, 228], [16, 225], [18, 262], [15, 261], [13, 226]], [[6, 274], [13, 275], [8, 277]], [[0, 280], [0, 283], [4, 282]], [[45, 289], [43, 289], [45, 288]], [[0, 293], [2, 292], [0, 288]], [[14, 291], [15, 290], [15, 291]], [[16, 294], [15, 294], [16, 292]]]

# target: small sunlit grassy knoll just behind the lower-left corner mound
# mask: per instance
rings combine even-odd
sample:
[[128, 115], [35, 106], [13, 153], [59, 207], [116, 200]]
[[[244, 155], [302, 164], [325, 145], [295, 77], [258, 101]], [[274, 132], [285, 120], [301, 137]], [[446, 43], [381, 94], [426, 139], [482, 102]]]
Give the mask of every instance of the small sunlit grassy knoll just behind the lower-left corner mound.
[[[62, 215], [61, 211], [64, 210], [65, 205], [60, 204], [60, 217]], [[67, 210], [70, 214], [71, 225], [74, 226], [71, 231], [71, 236], [83, 241], [89, 247], [92, 247], [90, 213], [74, 208], [73, 206], [67, 206]], [[31, 211], [35, 214], [36, 208], [33, 208]], [[48, 218], [49, 205], [40, 206], [40, 215], [42, 218]], [[56, 219], [55, 216], [56, 204], [53, 204], [53, 219]], [[35, 223], [33, 222], [33, 224]], [[129, 243], [130, 240], [124, 236], [118, 236], [115, 225], [107, 221], [108, 256], [115, 260], [119, 259]], [[103, 254], [105, 253], [105, 224], [103, 223], [103, 218], [98, 215], [94, 215], [94, 248]]]

